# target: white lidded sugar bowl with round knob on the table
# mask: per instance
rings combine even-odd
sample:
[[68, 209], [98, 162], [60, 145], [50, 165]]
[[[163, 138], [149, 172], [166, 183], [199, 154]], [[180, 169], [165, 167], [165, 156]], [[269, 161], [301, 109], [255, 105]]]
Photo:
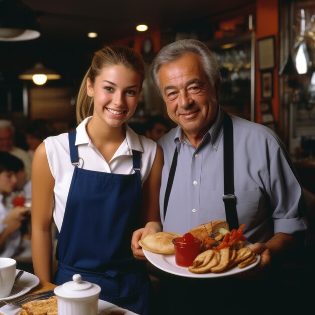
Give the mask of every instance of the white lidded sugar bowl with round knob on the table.
[[54, 289], [58, 297], [58, 315], [97, 315], [101, 287], [81, 279], [81, 275], [75, 274], [73, 281]]

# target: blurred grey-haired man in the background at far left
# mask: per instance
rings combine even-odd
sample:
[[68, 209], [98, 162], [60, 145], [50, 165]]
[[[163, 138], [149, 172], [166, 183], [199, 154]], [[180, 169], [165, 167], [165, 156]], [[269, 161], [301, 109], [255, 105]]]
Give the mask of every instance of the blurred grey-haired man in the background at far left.
[[[23, 174], [19, 178], [19, 182], [22, 186], [26, 184], [31, 179], [31, 168], [32, 168], [32, 159], [27, 153], [20, 147], [15, 146], [15, 129], [10, 120], [1, 119], [0, 120], [0, 151], [9, 152], [12, 155], [18, 157], [22, 160], [25, 170], [25, 182], [22, 185]], [[19, 174], [18, 174], [19, 177]]]

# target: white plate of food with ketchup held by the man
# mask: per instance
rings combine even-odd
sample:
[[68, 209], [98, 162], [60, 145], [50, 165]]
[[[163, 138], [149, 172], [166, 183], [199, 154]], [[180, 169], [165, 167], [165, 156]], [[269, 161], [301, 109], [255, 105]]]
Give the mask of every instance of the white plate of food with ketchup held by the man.
[[255, 267], [255, 254], [243, 234], [245, 224], [229, 230], [226, 221], [198, 225], [185, 234], [157, 232], [139, 241], [146, 259], [155, 267], [183, 277], [218, 278]]

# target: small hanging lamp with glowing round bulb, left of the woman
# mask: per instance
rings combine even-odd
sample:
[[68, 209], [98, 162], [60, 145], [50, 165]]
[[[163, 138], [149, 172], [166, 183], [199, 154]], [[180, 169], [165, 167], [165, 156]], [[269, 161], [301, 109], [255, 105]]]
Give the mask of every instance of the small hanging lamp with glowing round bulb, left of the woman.
[[61, 75], [57, 72], [44, 67], [40, 62], [36, 63], [34, 68], [28, 69], [19, 75], [21, 80], [33, 80], [37, 85], [43, 85], [47, 80], [58, 80]]

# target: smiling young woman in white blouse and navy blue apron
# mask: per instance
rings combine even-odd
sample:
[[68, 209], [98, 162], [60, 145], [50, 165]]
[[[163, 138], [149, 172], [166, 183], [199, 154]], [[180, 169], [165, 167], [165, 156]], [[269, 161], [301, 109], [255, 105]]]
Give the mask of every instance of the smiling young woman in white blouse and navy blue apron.
[[51, 281], [53, 217], [60, 232], [54, 282], [79, 273], [101, 286], [101, 299], [139, 314], [148, 312], [150, 283], [132, 256], [131, 237], [143, 223], [147, 233], [161, 228], [163, 165], [161, 148], [126, 124], [143, 79], [144, 63], [133, 49], [97, 51], [78, 94], [80, 124], [44, 140], [32, 167], [35, 274]]

